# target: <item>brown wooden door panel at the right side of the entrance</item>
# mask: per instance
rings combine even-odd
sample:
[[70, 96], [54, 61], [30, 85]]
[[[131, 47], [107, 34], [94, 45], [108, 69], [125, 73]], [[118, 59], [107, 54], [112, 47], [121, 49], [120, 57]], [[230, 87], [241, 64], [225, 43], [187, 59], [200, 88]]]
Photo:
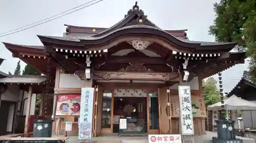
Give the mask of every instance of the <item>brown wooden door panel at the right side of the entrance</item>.
[[159, 132], [160, 134], [172, 133], [171, 116], [168, 104], [168, 88], [163, 87], [158, 89], [158, 105], [159, 105]]

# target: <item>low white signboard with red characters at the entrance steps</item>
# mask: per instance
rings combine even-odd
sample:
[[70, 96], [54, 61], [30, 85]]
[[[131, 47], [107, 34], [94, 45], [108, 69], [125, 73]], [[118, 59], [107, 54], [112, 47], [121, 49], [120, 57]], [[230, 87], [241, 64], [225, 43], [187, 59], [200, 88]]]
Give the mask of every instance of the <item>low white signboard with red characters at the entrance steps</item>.
[[180, 134], [148, 134], [148, 142], [181, 143]]

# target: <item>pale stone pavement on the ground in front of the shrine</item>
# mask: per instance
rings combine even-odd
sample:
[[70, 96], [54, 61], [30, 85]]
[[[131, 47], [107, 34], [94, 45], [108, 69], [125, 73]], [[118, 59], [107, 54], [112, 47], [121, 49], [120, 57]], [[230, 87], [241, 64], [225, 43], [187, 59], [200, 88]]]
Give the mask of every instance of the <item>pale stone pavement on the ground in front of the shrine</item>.
[[[211, 138], [213, 136], [217, 136], [216, 132], [207, 132], [204, 135], [196, 135], [194, 136], [195, 143], [211, 143]], [[245, 138], [245, 137], [237, 137], [243, 139], [243, 143], [255, 143], [255, 139]], [[191, 137], [185, 136], [184, 141], [192, 142]], [[78, 136], [69, 136], [67, 143], [78, 143]], [[108, 134], [101, 135], [98, 137], [93, 137], [92, 143], [147, 143], [148, 138], [145, 136], [118, 136], [117, 134]]]

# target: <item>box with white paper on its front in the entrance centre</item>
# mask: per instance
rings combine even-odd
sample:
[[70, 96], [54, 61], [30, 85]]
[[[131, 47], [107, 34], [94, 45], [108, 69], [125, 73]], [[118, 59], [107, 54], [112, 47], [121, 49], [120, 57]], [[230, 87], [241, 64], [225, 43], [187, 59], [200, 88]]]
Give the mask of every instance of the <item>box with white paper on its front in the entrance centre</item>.
[[119, 119], [119, 135], [145, 135], [144, 119], [121, 117]]

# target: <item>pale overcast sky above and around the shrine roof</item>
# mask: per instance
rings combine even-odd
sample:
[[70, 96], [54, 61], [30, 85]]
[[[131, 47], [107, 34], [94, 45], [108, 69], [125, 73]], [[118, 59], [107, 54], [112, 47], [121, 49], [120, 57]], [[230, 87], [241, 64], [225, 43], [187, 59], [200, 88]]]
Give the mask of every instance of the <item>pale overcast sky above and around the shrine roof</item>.
[[[45, 19], [63, 11], [72, 9], [91, 0], [1, 0], [0, 5], [0, 33], [14, 30], [17, 27]], [[124, 18], [136, 1], [133, 0], [104, 0], [72, 14], [45, 24], [30, 28], [29, 30], [1, 37], [0, 42], [23, 45], [42, 45], [36, 35], [62, 36], [66, 30], [63, 24], [77, 26], [110, 27]], [[187, 29], [189, 40], [215, 41], [208, 35], [209, 25], [214, 23], [215, 12], [213, 5], [217, 0], [137, 0], [138, 6], [147, 15], [147, 18], [163, 30]], [[19, 59], [12, 58], [12, 54], [0, 43], [0, 58], [6, 61], [0, 70], [8, 73], [14, 72]], [[22, 69], [25, 63], [21, 63]], [[237, 65], [223, 73], [223, 87], [229, 92], [240, 80], [242, 73], [247, 69], [245, 65]], [[218, 76], [214, 76], [215, 79]]]

